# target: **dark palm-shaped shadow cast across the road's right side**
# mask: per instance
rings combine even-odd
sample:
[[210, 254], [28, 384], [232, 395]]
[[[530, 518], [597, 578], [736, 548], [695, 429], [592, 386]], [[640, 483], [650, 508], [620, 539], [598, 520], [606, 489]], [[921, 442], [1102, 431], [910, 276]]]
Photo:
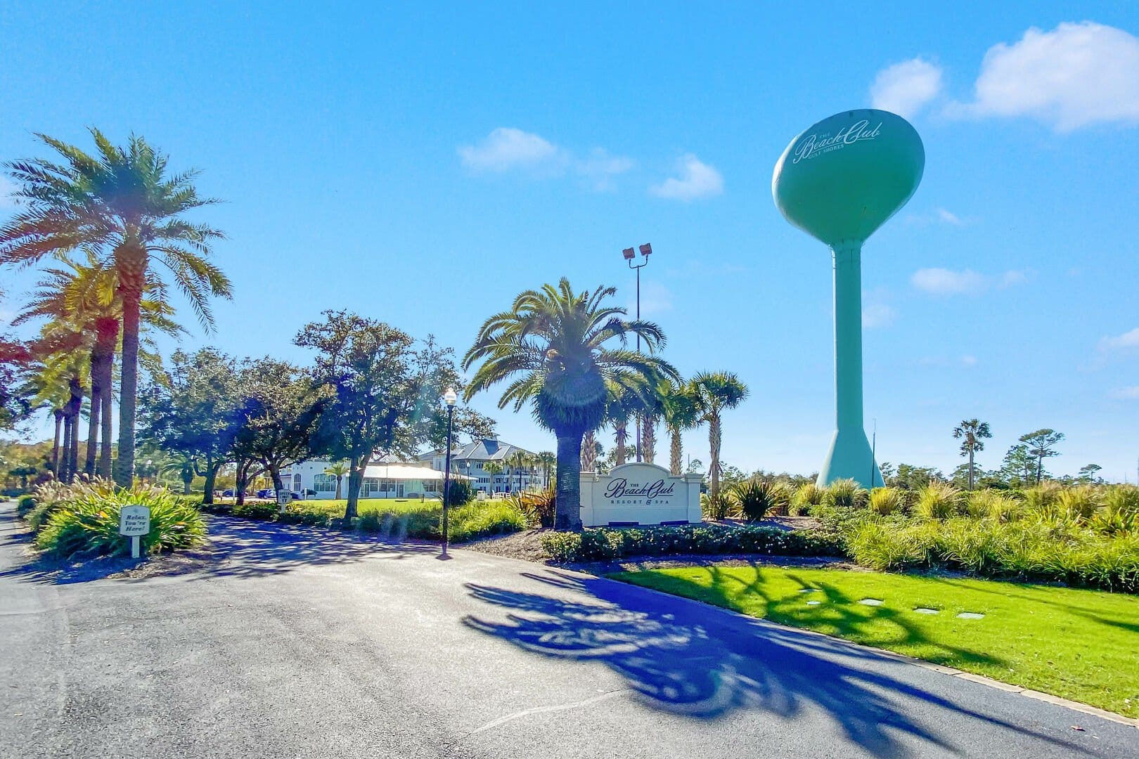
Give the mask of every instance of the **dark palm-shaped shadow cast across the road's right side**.
[[[902, 739], [960, 751], [909, 716], [928, 715], [935, 707], [1048, 741], [1073, 756], [1089, 753], [893, 677], [882, 667], [890, 662], [868, 649], [613, 580], [547, 572], [524, 574], [544, 592], [468, 584], [472, 596], [508, 613], [506, 622], [468, 616], [464, 624], [546, 657], [604, 663], [644, 704], [687, 718], [712, 720], [748, 709], [793, 718], [821, 709], [875, 756], [911, 754]], [[580, 600], [563, 597], [566, 593]], [[903, 700], [926, 708], [915, 710]]]

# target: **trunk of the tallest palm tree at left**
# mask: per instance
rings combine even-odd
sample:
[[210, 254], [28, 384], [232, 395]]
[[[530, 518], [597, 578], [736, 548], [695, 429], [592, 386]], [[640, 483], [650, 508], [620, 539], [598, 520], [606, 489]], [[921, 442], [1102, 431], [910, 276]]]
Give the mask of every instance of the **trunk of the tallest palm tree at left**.
[[[125, 248], [126, 246], [121, 246]], [[118, 398], [118, 465], [115, 482], [134, 480], [134, 406], [139, 385], [139, 302], [146, 279], [146, 251], [115, 250], [118, 290], [123, 297], [123, 381]]]

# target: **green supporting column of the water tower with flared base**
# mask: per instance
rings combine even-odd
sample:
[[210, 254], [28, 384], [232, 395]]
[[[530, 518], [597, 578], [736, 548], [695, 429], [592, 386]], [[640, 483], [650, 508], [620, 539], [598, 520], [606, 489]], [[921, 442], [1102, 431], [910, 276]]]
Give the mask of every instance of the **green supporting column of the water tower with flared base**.
[[882, 486], [882, 472], [862, 427], [862, 246], [833, 248], [835, 259], [835, 437], [818, 485], [850, 478]]

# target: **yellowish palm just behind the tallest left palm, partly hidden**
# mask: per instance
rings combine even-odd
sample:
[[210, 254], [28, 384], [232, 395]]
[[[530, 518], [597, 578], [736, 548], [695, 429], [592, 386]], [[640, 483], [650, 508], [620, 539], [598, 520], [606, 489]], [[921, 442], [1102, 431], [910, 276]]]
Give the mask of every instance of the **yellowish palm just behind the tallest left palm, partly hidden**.
[[[118, 348], [118, 323], [122, 299], [116, 290], [113, 269], [90, 249], [84, 264], [65, 259], [63, 266], [44, 270], [36, 291], [13, 324], [33, 319], [66, 320], [73, 329], [87, 336], [90, 344], [91, 406], [87, 436], [87, 461], [83, 471], [110, 477], [110, 409], [113, 401], [115, 354]], [[141, 327], [178, 336], [185, 330], [171, 319], [174, 310], [165, 302], [162, 283], [148, 275], [147, 297], [140, 303]], [[96, 467], [98, 440], [103, 452]]]

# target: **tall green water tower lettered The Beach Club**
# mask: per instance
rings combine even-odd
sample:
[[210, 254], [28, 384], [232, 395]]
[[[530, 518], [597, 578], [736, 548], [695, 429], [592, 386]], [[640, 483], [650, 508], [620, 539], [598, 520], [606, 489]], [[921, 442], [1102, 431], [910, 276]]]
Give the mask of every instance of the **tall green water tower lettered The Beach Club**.
[[886, 110], [823, 118], [784, 150], [776, 207], [830, 247], [835, 266], [835, 436], [818, 484], [883, 484], [862, 426], [862, 244], [913, 196], [925, 168], [917, 131]]

